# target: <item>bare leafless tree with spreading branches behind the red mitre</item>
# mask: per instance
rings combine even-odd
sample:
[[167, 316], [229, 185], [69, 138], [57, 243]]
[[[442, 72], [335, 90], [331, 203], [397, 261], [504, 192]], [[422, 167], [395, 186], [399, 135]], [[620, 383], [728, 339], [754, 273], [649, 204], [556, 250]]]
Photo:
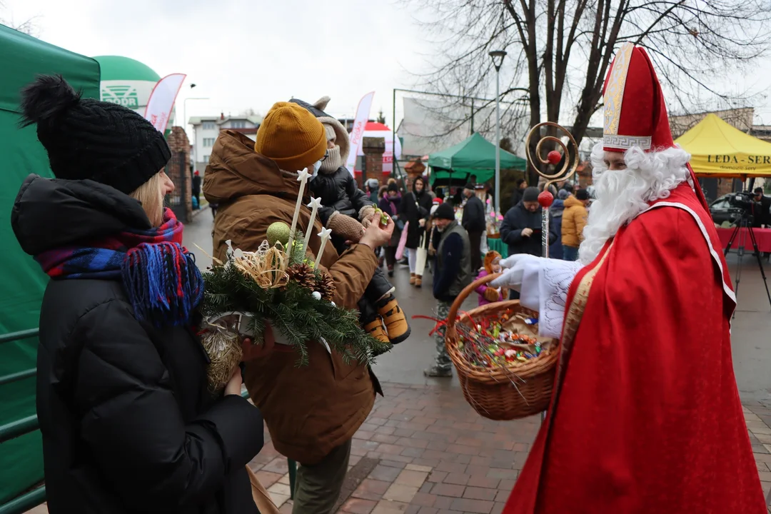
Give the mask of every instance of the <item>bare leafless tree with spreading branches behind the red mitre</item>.
[[506, 49], [503, 99], [525, 91], [530, 127], [572, 118], [578, 143], [601, 107], [604, 78], [622, 42], [648, 49], [670, 108], [687, 112], [704, 102], [734, 107], [746, 100], [748, 92], [715, 84], [741, 75], [771, 41], [771, 0], [402, 2], [418, 6], [436, 45], [423, 86], [448, 95], [489, 95], [495, 70], [488, 52]]

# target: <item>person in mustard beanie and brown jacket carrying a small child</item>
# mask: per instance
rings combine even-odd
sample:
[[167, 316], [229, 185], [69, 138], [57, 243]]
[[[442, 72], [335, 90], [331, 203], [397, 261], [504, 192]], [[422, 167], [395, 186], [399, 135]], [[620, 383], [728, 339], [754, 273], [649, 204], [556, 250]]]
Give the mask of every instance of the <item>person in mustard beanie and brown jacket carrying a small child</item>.
[[[297, 171], [318, 170], [326, 153], [324, 126], [295, 104], [273, 106], [256, 144], [244, 134], [223, 130], [204, 173], [204, 195], [220, 206], [214, 257], [227, 260], [227, 240], [241, 250], [256, 251], [271, 223], [291, 223], [300, 189]], [[309, 201], [306, 188], [298, 227], [316, 234], [322, 223], [316, 220], [309, 227]], [[374, 250], [389, 242], [393, 227], [392, 220], [385, 227], [370, 223], [359, 243], [344, 254], [325, 245], [319, 266], [335, 281], [335, 304], [357, 307], [378, 267]], [[319, 237], [311, 237], [308, 250], [318, 255], [320, 245]], [[301, 367], [295, 351], [281, 344], [248, 347], [244, 385], [264, 415], [274, 448], [300, 464], [293, 512], [328, 514], [348, 471], [353, 435], [372, 411], [375, 391], [382, 394], [382, 389], [368, 366], [327, 351], [320, 341], [307, 346], [308, 365]]]

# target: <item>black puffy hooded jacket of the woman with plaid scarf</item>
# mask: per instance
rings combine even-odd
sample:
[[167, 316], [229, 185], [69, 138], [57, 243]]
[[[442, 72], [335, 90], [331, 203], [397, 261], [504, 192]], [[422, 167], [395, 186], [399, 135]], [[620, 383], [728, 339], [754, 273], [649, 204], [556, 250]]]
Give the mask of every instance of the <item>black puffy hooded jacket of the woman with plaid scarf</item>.
[[[29, 176], [12, 211], [28, 254], [150, 228], [140, 204], [91, 180]], [[50, 281], [37, 412], [52, 514], [257, 514], [245, 465], [262, 417], [207, 388], [192, 327], [136, 320], [119, 281]]]

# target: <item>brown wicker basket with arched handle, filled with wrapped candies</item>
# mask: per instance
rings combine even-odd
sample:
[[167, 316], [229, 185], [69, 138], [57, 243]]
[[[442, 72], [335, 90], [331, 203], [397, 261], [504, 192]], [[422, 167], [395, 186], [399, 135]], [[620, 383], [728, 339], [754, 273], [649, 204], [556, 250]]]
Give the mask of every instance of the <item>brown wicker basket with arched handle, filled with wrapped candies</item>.
[[533, 311], [521, 307], [518, 300], [513, 300], [476, 307], [456, 320], [458, 310], [466, 297], [476, 287], [487, 284], [499, 276], [500, 274], [490, 274], [487, 277], [482, 277], [458, 295], [450, 307], [447, 317], [445, 344], [449, 358], [452, 359], [453, 365], [458, 371], [463, 396], [476, 412], [485, 418], [495, 420], [525, 418], [543, 412], [549, 406], [551, 388], [554, 385], [554, 373], [559, 358], [559, 347], [555, 345], [550, 352], [541, 354], [538, 358], [524, 362], [515, 368], [509, 368], [516, 375], [505, 369], [490, 369], [471, 365], [463, 358], [463, 354], [457, 348], [456, 322], [470, 325], [470, 317], [503, 314], [507, 310], [537, 315]]

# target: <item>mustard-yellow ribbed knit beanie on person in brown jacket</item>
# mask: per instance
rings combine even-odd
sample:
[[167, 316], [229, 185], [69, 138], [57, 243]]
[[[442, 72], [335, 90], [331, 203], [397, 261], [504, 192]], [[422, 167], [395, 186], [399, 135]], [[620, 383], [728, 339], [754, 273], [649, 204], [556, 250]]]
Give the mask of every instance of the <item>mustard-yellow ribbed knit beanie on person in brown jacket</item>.
[[273, 160], [281, 170], [299, 171], [327, 153], [327, 134], [307, 109], [277, 102], [257, 132], [254, 151]]

